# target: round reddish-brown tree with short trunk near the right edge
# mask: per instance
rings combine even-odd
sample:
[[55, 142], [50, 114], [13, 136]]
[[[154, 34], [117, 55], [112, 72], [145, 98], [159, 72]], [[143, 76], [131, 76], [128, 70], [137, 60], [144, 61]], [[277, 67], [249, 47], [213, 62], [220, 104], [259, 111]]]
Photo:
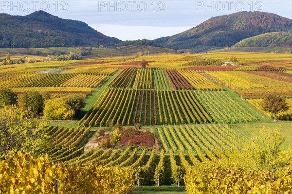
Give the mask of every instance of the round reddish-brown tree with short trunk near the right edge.
[[274, 122], [276, 121], [276, 114], [281, 111], [287, 111], [289, 106], [286, 100], [279, 96], [267, 96], [262, 103], [263, 110], [272, 113], [274, 115]]

